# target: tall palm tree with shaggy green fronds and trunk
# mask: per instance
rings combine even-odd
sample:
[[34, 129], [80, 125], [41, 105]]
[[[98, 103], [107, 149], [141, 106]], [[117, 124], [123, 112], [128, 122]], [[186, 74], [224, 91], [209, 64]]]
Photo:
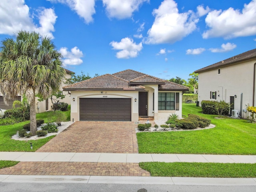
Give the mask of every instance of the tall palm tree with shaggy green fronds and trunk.
[[52, 40], [36, 32], [19, 31], [0, 47], [0, 92], [4, 102], [25, 94], [30, 104], [30, 132], [36, 134], [35, 94], [46, 99], [65, 77], [62, 55]]

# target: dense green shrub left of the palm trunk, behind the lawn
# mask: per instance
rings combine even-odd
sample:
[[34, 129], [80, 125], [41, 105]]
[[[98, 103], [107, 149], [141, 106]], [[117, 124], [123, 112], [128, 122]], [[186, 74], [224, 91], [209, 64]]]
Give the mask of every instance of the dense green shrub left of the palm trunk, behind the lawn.
[[20, 118], [22, 121], [29, 120], [30, 119], [30, 109], [27, 108], [27, 110], [24, 112], [21, 107], [8, 109], [4, 112], [4, 117], [9, 118]]

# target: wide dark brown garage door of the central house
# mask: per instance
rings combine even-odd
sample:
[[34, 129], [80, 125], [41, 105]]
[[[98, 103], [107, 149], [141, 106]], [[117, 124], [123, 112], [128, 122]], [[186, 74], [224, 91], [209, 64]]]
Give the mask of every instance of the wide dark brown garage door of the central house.
[[131, 121], [130, 98], [80, 98], [80, 121]]

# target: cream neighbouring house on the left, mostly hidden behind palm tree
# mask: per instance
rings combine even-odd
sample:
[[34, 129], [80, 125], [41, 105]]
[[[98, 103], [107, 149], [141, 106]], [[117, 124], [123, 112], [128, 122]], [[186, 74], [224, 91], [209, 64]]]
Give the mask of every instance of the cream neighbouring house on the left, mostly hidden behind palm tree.
[[[68, 79], [68, 78], [71, 78], [71, 75], [72, 74], [75, 74], [74, 72], [70, 71], [70, 70], [66, 70], [66, 76], [65, 78]], [[61, 91], [62, 90], [62, 87], [65, 86], [66, 84], [64, 84], [64, 82], [62, 83], [62, 86], [61, 86]], [[59, 102], [66, 102], [70, 105], [70, 94], [68, 94], [67, 91], [63, 91], [62, 92], [63, 95], [66, 95], [64, 99], [58, 99]], [[54, 99], [56, 99], [56, 97], [53, 96]], [[21, 100], [22, 97], [21, 96], [17, 96], [17, 99], [15, 100]], [[4, 99], [3, 99], [3, 96], [0, 95], [0, 108], [2, 109], [11, 109], [12, 108], [12, 102], [14, 100], [10, 100], [8, 103], [9, 105], [7, 106], [5, 103], [4, 103]], [[55, 101], [54, 101], [55, 102]], [[42, 102], [39, 102], [38, 101], [38, 98], [36, 98], [36, 113], [41, 113], [41, 112], [45, 112], [47, 110], [52, 110], [52, 102], [51, 102], [51, 99], [46, 99]]]

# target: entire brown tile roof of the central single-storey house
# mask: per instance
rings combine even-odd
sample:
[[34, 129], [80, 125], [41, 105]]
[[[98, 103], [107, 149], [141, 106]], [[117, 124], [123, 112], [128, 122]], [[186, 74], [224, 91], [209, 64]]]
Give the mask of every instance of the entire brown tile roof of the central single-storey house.
[[64, 90], [144, 90], [140, 84], [158, 84], [159, 90], [189, 90], [188, 87], [162, 80], [134, 70], [105, 74], [64, 86]]

